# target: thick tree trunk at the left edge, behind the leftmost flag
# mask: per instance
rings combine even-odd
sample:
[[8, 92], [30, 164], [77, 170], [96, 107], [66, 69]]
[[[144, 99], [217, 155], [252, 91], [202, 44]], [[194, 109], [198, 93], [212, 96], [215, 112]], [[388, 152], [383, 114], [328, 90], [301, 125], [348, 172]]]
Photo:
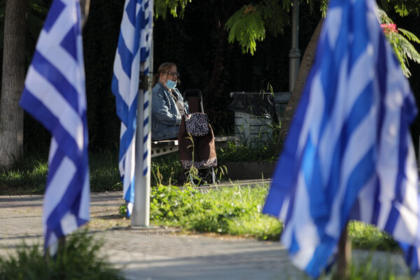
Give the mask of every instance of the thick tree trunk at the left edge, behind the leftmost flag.
[[23, 110], [19, 99], [25, 83], [26, 13], [27, 0], [6, 0], [0, 96], [0, 167], [10, 167], [23, 154]]

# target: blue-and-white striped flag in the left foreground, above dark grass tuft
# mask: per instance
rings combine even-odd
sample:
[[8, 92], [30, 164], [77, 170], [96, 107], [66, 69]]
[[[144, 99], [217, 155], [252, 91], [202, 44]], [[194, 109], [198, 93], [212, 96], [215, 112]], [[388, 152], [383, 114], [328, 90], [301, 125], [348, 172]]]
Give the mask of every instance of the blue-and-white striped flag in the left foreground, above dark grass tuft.
[[43, 204], [45, 250], [89, 220], [85, 66], [78, 0], [54, 0], [20, 106], [52, 134]]

